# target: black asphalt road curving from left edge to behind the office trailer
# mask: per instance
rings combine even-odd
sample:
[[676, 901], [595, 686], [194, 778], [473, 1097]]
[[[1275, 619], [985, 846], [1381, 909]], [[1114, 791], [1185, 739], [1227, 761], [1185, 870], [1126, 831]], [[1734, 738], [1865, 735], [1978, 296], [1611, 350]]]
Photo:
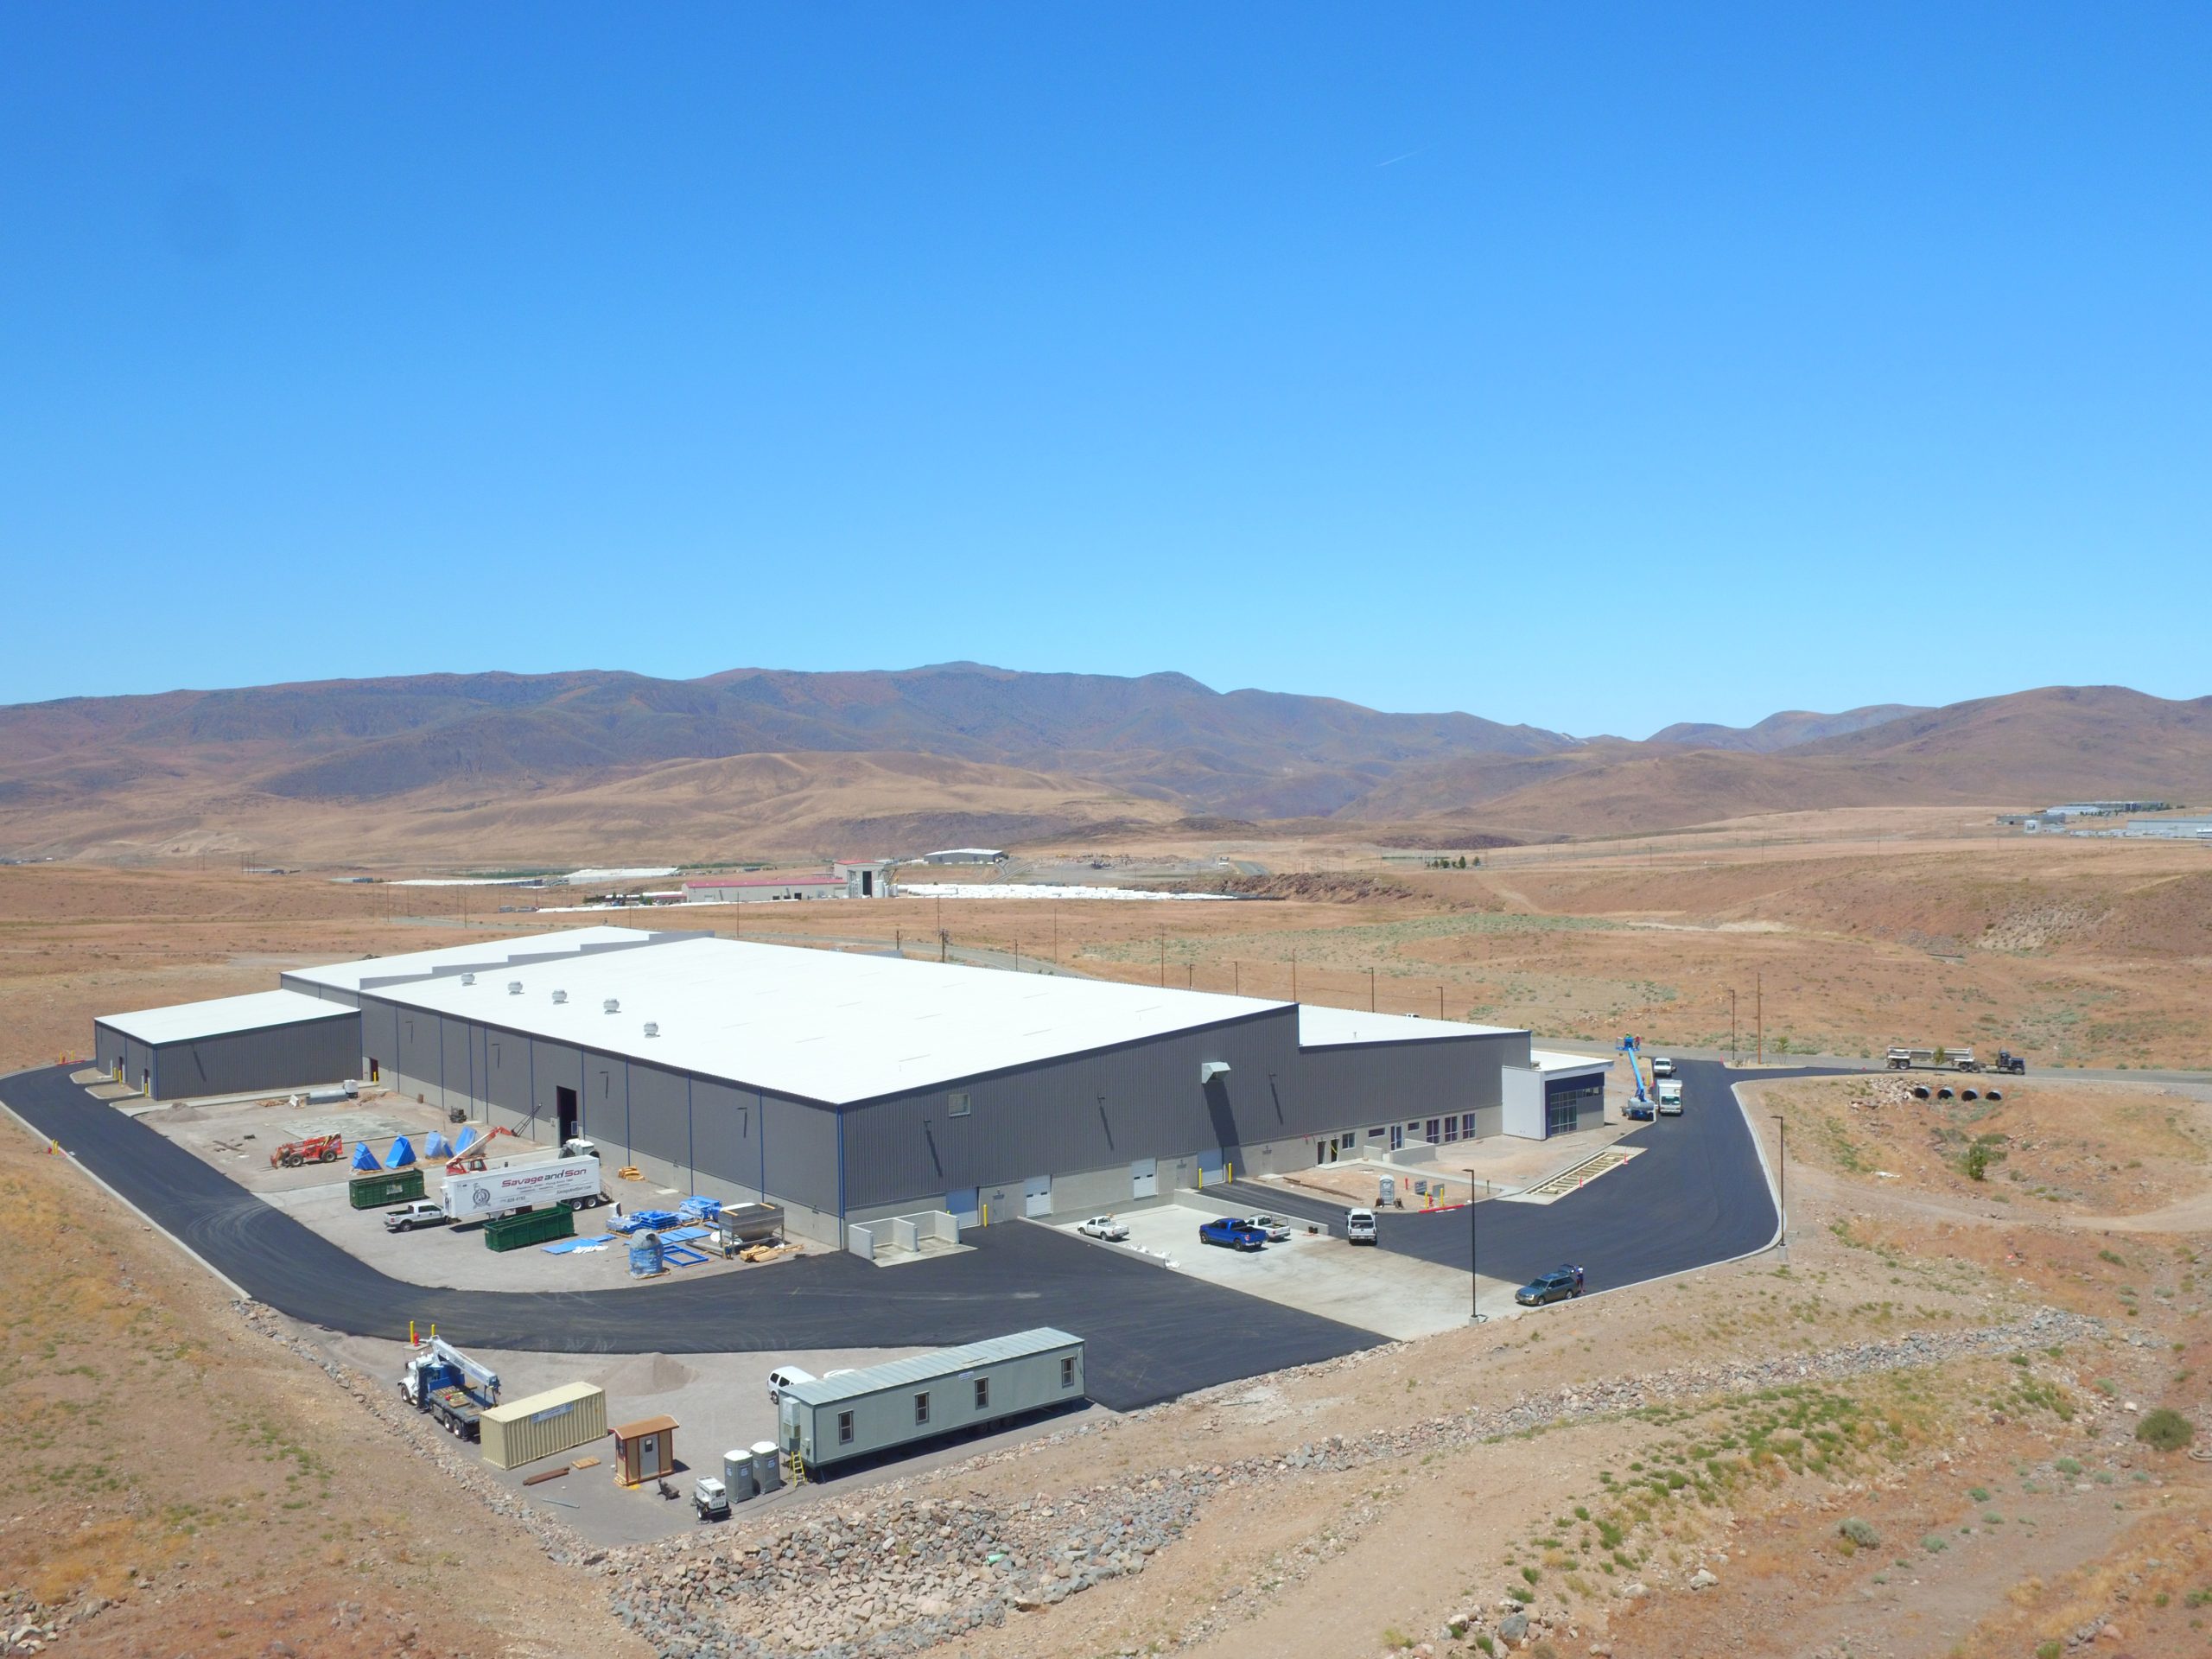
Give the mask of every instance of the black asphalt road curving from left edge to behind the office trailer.
[[938, 1347], [1060, 1325], [1091, 1345], [1091, 1398], [1117, 1411], [1380, 1340], [1026, 1225], [978, 1228], [967, 1234], [975, 1250], [907, 1267], [821, 1252], [626, 1290], [425, 1290], [376, 1272], [93, 1099], [69, 1071], [15, 1073], [0, 1079], [0, 1099], [250, 1296], [349, 1336], [405, 1338], [418, 1318], [465, 1347], [721, 1354]]

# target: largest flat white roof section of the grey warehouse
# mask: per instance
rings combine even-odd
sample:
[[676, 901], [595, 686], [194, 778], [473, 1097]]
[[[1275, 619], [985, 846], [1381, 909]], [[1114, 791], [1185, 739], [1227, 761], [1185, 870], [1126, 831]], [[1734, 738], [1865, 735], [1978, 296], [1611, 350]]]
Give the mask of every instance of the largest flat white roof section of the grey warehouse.
[[[369, 995], [827, 1104], [1290, 1006], [710, 936], [480, 971], [476, 984], [449, 973], [369, 987]], [[606, 1013], [606, 1000], [619, 1013]], [[648, 1020], [659, 1035], [644, 1033]]]

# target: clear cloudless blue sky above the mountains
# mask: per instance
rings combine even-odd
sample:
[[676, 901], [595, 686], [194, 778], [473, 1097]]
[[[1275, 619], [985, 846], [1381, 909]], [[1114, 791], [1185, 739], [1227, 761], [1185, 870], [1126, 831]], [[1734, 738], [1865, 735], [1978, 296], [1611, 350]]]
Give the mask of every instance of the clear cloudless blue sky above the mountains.
[[2212, 692], [2208, 86], [2194, 2], [9, 4], [0, 701]]

